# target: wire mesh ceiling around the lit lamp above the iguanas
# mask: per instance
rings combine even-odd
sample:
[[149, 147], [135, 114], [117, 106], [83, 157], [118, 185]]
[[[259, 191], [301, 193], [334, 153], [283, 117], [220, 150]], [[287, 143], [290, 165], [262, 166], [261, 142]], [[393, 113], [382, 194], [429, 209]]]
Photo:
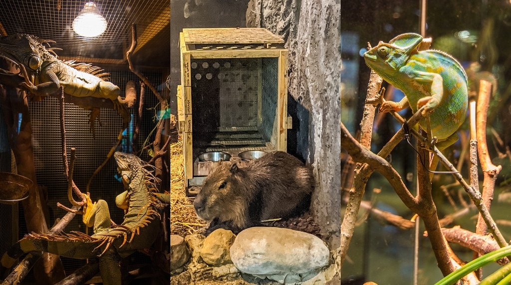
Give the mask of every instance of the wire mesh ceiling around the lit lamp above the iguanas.
[[[73, 32], [73, 20], [87, 2], [94, 2], [107, 22], [100, 36], [86, 38]], [[140, 49], [168, 27], [169, 19], [170, 0], [3, 0], [0, 9], [7, 34], [28, 33], [54, 40], [52, 47], [63, 49], [59, 56], [73, 58], [122, 60], [130, 45], [132, 23], [137, 24]]]

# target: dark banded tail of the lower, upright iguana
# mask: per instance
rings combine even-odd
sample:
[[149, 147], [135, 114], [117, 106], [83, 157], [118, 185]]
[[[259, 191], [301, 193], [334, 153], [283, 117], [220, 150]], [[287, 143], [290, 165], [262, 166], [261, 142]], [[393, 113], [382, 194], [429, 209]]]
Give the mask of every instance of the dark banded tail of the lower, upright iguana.
[[95, 258], [108, 246], [105, 239], [93, 238], [82, 232], [71, 234], [31, 233], [15, 243], [2, 256], [2, 266], [10, 268], [21, 255], [31, 251], [44, 251], [78, 259]]

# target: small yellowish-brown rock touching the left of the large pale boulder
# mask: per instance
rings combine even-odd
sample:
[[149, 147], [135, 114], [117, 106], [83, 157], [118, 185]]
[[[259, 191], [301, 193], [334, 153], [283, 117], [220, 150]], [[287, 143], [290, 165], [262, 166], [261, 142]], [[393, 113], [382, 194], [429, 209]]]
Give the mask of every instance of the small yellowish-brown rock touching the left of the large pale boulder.
[[200, 256], [202, 260], [212, 266], [221, 266], [232, 263], [229, 248], [236, 236], [232, 231], [223, 228], [216, 229], [204, 239]]

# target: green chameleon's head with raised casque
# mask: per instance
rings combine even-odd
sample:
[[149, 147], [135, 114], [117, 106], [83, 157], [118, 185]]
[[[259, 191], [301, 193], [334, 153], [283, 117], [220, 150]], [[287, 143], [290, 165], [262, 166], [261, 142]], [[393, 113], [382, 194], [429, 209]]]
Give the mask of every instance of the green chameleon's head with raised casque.
[[379, 42], [364, 53], [367, 66], [382, 75], [391, 75], [406, 64], [410, 55], [417, 52], [423, 38], [417, 34], [402, 34], [388, 43]]

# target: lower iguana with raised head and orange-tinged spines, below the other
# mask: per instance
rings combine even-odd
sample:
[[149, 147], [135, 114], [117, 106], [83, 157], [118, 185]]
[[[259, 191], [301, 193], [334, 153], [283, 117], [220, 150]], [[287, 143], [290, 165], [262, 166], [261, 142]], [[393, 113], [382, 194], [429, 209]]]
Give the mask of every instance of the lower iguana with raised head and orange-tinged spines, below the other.
[[114, 158], [126, 189], [115, 198], [115, 204], [126, 213], [122, 224], [111, 225], [105, 200], [92, 203], [86, 195], [83, 222], [94, 227], [94, 235], [76, 231], [28, 234], [4, 254], [2, 266], [10, 268], [22, 254], [34, 250], [80, 259], [99, 257], [104, 284], [121, 284], [120, 258], [155, 241], [160, 228], [159, 210], [163, 203], [170, 204], [170, 195], [156, 192], [157, 178], [148, 169], [152, 165], [134, 154], [115, 152]]

